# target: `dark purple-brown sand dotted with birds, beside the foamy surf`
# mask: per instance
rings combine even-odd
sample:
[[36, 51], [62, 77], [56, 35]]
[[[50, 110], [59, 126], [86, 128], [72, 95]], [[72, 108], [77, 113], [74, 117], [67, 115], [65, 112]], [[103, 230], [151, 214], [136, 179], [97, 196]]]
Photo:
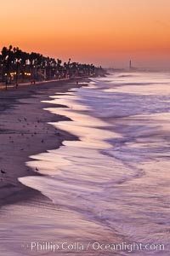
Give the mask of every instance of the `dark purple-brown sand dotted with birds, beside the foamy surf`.
[[[89, 79], [82, 78], [83, 82]], [[84, 85], [84, 84], [83, 84]], [[17, 201], [26, 201], [45, 196], [18, 181], [18, 177], [37, 176], [38, 171], [26, 166], [33, 154], [57, 149], [64, 140], [77, 140], [78, 137], [49, 125], [68, 119], [65, 116], [49, 113], [43, 108], [59, 106], [42, 101], [50, 101], [49, 96], [79, 88], [76, 80], [48, 81], [47, 83], [20, 86], [17, 90], [0, 91], [0, 208]], [[66, 106], [65, 106], [66, 108]], [[47, 201], [47, 198], [46, 198]]]

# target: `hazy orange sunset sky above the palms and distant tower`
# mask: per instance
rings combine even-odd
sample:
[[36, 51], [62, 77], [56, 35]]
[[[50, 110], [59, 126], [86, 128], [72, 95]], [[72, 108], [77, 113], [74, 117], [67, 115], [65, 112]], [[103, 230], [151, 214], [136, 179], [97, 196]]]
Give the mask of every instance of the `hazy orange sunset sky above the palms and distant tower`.
[[107, 67], [170, 66], [170, 0], [1, 1], [0, 47]]

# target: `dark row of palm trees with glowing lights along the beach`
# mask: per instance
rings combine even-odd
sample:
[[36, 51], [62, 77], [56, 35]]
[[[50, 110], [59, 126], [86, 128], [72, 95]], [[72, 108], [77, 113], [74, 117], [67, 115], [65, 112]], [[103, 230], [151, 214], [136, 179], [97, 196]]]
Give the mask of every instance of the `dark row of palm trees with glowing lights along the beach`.
[[2, 81], [6, 84], [15, 81], [16, 85], [19, 80], [24, 82], [28, 79], [36, 81], [92, 76], [98, 69], [93, 64], [71, 62], [71, 59], [62, 64], [59, 59], [55, 60], [36, 52], [30, 54], [12, 45], [3, 47], [0, 62]]

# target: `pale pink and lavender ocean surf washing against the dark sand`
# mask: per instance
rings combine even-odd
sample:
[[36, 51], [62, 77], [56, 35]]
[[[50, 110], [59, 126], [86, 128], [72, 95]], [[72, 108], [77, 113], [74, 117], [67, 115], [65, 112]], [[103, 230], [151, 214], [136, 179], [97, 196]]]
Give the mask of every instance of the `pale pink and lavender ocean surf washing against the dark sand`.
[[[20, 182], [58, 207], [55, 231], [50, 226], [55, 239], [89, 245], [86, 255], [167, 255], [170, 73], [112, 73], [50, 102], [56, 108], [47, 111], [71, 119], [51, 124], [79, 140], [32, 155], [27, 165], [47, 176]], [[124, 247], [113, 249], [122, 242]], [[81, 254], [77, 247], [59, 255]]]

